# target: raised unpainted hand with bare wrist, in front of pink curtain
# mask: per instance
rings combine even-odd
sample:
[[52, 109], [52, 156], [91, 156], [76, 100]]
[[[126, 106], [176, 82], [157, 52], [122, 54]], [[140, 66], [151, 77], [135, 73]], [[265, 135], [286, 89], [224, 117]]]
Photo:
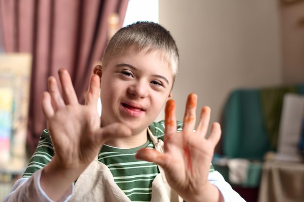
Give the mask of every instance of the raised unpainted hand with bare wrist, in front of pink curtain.
[[55, 155], [44, 168], [40, 182], [51, 199], [58, 199], [60, 191], [65, 191], [77, 179], [106, 140], [131, 135], [131, 130], [123, 124], [101, 128], [97, 111], [100, 78], [97, 75], [92, 75], [86, 105], [81, 105], [68, 71], [60, 69], [58, 74], [62, 95], [56, 79], [50, 77], [50, 92], [44, 92], [41, 99]]

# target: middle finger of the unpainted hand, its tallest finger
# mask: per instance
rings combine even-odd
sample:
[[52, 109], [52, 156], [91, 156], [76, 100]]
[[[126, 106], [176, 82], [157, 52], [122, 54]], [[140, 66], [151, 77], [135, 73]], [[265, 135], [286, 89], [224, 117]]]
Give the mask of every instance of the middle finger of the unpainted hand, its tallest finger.
[[68, 71], [64, 68], [61, 68], [58, 71], [58, 75], [62, 88], [62, 96], [65, 103], [67, 105], [78, 104], [78, 98], [75, 93], [75, 89], [73, 87], [73, 83], [70, 75], [68, 74]]

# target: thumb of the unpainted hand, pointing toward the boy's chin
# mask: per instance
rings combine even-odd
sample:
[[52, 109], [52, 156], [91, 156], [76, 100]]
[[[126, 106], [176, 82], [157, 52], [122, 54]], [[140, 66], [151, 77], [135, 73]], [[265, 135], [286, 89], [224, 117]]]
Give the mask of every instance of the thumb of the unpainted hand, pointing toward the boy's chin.
[[124, 124], [114, 123], [101, 127], [95, 134], [95, 140], [99, 143], [104, 143], [106, 140], [130, 137], [132, 131]]

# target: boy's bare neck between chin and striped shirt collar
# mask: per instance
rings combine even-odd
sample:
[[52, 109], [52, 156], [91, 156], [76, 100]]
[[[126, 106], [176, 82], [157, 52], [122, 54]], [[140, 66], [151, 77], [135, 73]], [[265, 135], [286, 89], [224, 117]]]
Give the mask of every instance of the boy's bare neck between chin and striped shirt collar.
[[145, 144], [147, 142], [147, 140], [148, 140], [147, 129], [145, 129], [145, 130], [141, 131], [140, 133], [134, 134], [128, 138], [119, 138], [119, 139], [108, 140], [105, 142], [105, 144], [112, 146], [112, 147], [131, 149], [131, 148], [139, 147], [139, 146]]

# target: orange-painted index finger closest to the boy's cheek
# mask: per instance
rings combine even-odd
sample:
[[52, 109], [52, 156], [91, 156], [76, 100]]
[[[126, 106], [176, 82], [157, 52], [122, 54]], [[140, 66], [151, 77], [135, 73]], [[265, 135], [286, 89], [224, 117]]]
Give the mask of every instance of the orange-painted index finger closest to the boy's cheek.
[[174, 133], [176, 133], [175, 102], [168, 100], [165, 108], [165, 141], [169, 142]]

